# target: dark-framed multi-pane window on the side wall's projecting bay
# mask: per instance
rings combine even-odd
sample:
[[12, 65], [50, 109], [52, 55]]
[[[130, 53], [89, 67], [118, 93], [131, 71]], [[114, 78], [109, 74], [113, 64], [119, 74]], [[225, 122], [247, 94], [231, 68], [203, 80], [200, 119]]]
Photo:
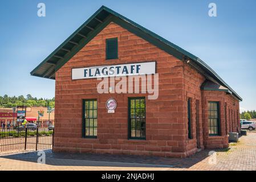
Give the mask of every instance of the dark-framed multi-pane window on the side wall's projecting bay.
[[220, 103], [208, 102], [208, 126], [209, 135], [220, 135]]

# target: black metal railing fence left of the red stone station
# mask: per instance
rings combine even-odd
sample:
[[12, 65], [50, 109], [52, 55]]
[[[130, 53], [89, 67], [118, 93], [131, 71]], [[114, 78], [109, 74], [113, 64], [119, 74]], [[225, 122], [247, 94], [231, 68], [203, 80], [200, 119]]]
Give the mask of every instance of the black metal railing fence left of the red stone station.
[[54, 129], [0, 128], [0, 152], [51, 150], [53, 144]]

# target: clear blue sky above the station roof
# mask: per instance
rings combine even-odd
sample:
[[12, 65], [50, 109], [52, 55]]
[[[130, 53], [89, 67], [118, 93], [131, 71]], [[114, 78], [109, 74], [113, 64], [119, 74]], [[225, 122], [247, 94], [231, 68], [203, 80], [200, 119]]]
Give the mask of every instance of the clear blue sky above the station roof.
[[[37, 16], [45, 3], [46, 17]], [[208, 5], [217, 5], [217, 17]], [[54, 97], [55, 81], [30, 72], [101, 5], [200, 57], [256, 109], [256, 1], [9, 0], [0, 6], [0, 95]]]

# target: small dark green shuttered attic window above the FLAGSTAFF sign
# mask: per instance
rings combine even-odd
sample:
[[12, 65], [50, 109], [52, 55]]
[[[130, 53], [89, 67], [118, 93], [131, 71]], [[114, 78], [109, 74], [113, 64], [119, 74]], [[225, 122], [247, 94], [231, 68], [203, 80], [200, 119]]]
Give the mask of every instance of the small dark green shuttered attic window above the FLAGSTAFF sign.
[[106, 40], [106, 59], [118, 59], [117, 38]]

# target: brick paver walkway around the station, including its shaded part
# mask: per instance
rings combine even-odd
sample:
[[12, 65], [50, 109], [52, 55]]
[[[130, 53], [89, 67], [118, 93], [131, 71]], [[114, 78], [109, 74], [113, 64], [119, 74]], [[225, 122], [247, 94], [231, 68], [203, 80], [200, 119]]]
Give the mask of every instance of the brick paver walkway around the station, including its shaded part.
[[[67, 154], [46, 151], [46, 164], [38, 164], [37, 153], [4, 154], [0, 170], [255, 170], [256, 133], [231, 143], [229, 150], [217, 150], [209, 156], [204, 150], [190, 158], [155, 156]], [[216, 160], [214, 159], [216, 156]], [[209, 163], [210, 162], [210, 163]]]

